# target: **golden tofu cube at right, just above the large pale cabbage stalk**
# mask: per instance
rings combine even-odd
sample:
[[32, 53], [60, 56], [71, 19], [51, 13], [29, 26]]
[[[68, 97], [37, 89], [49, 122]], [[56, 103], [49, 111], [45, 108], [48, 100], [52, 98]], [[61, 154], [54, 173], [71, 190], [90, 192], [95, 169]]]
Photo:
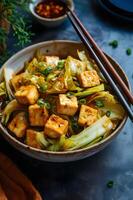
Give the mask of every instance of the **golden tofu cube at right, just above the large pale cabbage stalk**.
[[86, 105], [80, 108], [78, 123], [81, 126], [90, 126], [98, 119], [98, 110]]

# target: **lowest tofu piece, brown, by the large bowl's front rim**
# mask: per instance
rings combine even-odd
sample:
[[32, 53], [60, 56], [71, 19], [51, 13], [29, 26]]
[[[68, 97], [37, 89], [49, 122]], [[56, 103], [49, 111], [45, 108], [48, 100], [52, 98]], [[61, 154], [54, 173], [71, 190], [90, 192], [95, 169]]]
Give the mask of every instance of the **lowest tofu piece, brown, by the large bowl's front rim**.
[[26, 131], [26, 144], [28, 146], [41, 149], [41, 145], [37, 141], [37, 131], [32, 129], [27, 129]]

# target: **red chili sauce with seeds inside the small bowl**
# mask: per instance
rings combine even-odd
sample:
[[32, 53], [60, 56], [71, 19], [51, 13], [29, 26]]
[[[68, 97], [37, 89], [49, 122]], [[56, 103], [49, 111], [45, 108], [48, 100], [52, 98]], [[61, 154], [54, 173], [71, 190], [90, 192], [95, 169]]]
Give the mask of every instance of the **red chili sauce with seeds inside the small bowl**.
[[44, 18], [58, 18], [66, 13], [66, 8], [59, 0], [44, 0], [37, 4], [35, 12]]

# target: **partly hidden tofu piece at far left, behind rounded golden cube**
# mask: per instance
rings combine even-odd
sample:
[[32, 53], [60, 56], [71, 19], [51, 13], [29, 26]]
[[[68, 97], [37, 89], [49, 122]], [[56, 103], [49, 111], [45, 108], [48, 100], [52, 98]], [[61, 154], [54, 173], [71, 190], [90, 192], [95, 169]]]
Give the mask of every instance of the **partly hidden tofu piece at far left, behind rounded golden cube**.
[[18, 75], [15, 75], [11, 79], [11, 84], [15, 91], [17, 91], [23, 84], [23, 78], [25, 73], [21, 73]]

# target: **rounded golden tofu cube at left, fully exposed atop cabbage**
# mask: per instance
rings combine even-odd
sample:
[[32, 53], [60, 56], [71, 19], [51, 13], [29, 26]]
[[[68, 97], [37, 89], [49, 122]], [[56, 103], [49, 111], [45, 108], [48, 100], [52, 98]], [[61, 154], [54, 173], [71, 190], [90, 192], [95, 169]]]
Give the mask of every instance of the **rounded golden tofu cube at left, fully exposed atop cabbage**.
[[21, 86], [15, 93], [17, 101], [24, 105], [35, 104], [39, 98], [39, 93], [34, 85]]

